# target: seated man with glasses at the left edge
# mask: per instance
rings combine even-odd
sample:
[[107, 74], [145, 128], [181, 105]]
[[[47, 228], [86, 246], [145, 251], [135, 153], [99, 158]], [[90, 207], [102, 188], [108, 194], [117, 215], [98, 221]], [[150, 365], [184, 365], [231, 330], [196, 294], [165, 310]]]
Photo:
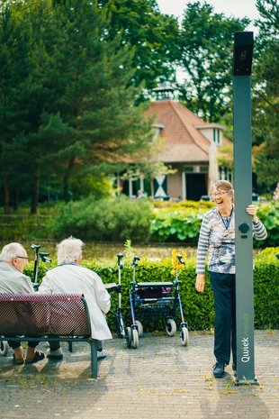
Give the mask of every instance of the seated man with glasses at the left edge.
[[[9, 243], [0, 253], [0, 293], [33, 294], [31, 279], [23, 274], [28, 262], [26, 250], [20, 243]], [[43, 360], [45, 355], [35, 348], [39, 342], [28, 342], [25, 363], [31, 364]], [[24, 363], [23, 347], [20, 341], [9, 342], [14, 349], [14, 362]]]

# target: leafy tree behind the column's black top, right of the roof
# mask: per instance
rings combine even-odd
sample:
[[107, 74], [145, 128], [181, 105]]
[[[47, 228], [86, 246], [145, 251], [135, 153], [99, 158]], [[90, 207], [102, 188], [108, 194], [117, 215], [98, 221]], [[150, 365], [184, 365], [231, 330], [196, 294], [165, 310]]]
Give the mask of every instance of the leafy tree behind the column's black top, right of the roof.
[[181, 99], [205, 121], [220, 122], [231, 111], [233, 33], [249, 20], [225, 17], [200, 1], [186, 5], [179, 37], [184, 84]]

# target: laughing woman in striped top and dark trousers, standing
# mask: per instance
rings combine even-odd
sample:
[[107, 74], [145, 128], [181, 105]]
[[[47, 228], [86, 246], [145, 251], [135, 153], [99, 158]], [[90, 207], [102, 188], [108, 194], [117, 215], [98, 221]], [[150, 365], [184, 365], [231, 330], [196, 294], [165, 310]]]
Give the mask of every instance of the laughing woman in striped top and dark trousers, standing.
[[[232, 368], [236, 370], [236, 301], [235, 301], [235, 214], [234, 191], [227, 180], [213, 185], [211, 194], [215, 207], [204, 214], [198, 242], [196, 265], [196, 290], [205, 285], [205, 258], [209, 250], [208, 270], [214, 296], [214, 356], [213, 375], [222, 378], [229, 365], [232, 351]], [[257, 217], [255, 205], [247, 206], [252, 216], [253, 235], [266, 239], [266, 227]]]

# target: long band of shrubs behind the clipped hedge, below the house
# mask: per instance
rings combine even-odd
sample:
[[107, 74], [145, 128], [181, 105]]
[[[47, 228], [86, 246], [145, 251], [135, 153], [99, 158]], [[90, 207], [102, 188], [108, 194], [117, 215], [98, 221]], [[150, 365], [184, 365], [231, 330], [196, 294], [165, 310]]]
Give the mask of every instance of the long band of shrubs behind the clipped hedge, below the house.
[[[212, 206], [207, 201], [156, 201], [152, 212], [148, 199], [131, 201], [121, 196], [97, 200], [88, 196], [56, 205], [49, 212], [41, 207], [40, 215], [0, 214], [0, 240], [60, 240], [74, 235], [85, 241], [182, 241], [196, 246], [202, 214]], [[254, 241], [254, 246], [275, 246], [279, 241], [279, 203], [259, 205], [257, 214], [266, 226], [267, 238]]]

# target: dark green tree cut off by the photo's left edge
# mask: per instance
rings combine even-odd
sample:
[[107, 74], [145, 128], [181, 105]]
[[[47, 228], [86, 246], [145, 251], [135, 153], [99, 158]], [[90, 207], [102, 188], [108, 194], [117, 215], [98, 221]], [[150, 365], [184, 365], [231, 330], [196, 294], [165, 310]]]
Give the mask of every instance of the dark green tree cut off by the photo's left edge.
[[[22, 19], [23, 2], [0, 3], [0, 172], [4, 188], [4, 210], [9, 212], [11, 188], [18, 196], [18, 185], [24, 185], [22, 168], [17, 168], [18, 121], [25, 109], [16, 108], [18, 91], [28, 77], [30, 33]], [[24, 27], [23, 27], [24, 26]], [[20, 165], [19, 165], [20, 166]], [[13, 199], [13, 196], [12, 196]]]

